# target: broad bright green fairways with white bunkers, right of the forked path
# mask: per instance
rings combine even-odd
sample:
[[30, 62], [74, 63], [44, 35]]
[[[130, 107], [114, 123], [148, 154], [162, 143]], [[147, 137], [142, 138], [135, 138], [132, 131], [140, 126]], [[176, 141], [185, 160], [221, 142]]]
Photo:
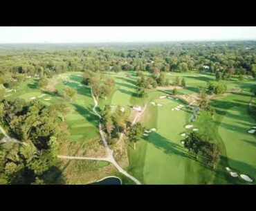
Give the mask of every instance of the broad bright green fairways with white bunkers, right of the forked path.
[[[197, 92], [198, 86], [205, 86], [214, 79], [214, 75], [192, 76], [195, 74], [182, 73], [189, 89], [182, 89], [179, 93]], [[171, 73], [170, 78], [177, 75], [181, 76], [181, 73]], [[253, 83], [250, 80], [239, 82], [235, 79], [228, 81], [227, 86], [228, 89], [244, 89], [245, 93], [229, 94], [214, 100], [212, 106], [217, 109], [215, 118], [201, 111], [198, 120], [192, 123], [200, 132], [207, 134], [212, 142], [221, 146], [223, 157], [216, 170], [194, 160], [181, 144], [181, 133], [191, 131], [184, 128], [186, 124], [191, 124], [191, 111], [171, 111], [181, 102], [159, 99], [161, 92], [152, 91], [144, 102], [150, 99], [164, 105], [149, 105], [142, 123], [147, 129], [155, 127], [157, 130], [140, 140], [136, 150], [129, 147], [129, 172], [145, 184], [245, 184], [246, 181], [241, 178], [230, 176], [225, 169], [229, 166], [255, 181], [256, 138], [247, 133], [250, 127], [256, 126], [247, 108], [250, 99], [248, 90]]]

